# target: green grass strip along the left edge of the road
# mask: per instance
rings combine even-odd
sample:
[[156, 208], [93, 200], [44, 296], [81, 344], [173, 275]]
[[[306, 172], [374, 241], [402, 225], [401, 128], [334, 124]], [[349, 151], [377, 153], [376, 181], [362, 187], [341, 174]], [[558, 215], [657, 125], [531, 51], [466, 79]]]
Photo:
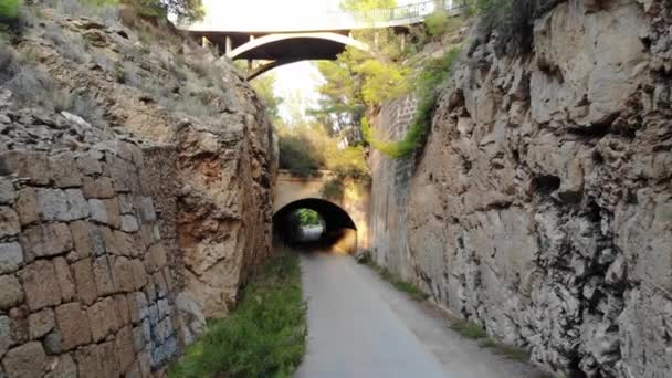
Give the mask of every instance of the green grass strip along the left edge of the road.
[[298, 255], [283, 252], [250, 280], [238, 308], [208, 325], [169, 377], [290, 377], [305, 354], [305, 311]]

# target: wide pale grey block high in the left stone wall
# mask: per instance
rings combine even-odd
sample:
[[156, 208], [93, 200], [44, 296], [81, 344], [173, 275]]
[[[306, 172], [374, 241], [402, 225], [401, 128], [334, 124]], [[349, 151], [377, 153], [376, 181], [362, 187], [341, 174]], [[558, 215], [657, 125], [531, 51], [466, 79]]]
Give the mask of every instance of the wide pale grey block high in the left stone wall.
[[73, 221], [88, 217], [88, 206], [78, 189], [38, 189], [38, 206], [45, 221]]

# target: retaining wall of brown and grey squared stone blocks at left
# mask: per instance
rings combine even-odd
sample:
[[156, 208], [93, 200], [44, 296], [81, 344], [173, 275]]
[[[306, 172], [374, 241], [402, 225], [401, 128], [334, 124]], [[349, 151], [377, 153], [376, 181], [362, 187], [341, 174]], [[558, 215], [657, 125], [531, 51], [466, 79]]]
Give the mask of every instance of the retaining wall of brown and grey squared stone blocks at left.
[[160, 376], [178, 354], [143, 176], [120, 141], [0, 154], [0, 377]]

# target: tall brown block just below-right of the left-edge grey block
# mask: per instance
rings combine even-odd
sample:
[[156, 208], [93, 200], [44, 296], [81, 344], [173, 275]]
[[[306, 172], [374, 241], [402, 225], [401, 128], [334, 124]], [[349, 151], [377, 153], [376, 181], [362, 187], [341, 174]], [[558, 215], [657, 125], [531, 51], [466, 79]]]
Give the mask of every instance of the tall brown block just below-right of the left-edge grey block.
[[31, 311], [38, 311], [61, 303], [61, 290], [53, 263], [39, 260], [28, 265], [21, 273], [25, 290], [25, 303]]

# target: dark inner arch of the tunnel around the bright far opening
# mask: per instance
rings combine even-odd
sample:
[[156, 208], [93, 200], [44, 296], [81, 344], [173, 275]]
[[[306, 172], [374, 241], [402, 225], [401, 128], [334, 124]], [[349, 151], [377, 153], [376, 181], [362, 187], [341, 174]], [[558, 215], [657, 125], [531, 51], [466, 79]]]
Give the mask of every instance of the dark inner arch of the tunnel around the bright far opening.
[[290, 243], [291, 217], [300, 209], [316, 211], [324, 220], [323, 246], [332, 252], [355, 253], [357, 251], [357, 225], [340, 206], [321, 198], [304, 198], [283, 206], [273, 214], [275, 240]]

